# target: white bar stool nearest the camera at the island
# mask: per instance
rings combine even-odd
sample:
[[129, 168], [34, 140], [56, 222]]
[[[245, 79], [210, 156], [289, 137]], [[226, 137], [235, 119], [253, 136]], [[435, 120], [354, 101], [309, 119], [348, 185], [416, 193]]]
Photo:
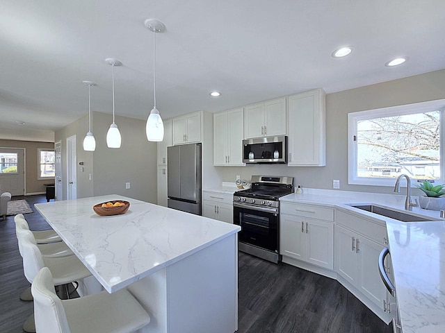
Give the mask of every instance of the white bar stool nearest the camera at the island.
[[38, 333], [125, 333], [150, 322], [147, 311], [127, 289], [60, 300], [48, 268], [42, 268], [35, 276], [31, 291]]

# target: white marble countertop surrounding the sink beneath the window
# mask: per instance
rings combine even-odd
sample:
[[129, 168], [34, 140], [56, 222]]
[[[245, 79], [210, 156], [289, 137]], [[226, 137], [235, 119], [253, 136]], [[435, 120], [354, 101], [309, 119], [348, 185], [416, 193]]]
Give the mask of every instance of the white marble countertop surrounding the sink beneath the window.
[[445, 221], [439, 212], [413, 207], [410, 213], [442, 221], [408, 223], [348, 205], [374, 203], [406, 212], [405, 196], [396, 194], [305, 189], [280, 200], [336, 207], [385, 223], [403, 333], [445, 332]]

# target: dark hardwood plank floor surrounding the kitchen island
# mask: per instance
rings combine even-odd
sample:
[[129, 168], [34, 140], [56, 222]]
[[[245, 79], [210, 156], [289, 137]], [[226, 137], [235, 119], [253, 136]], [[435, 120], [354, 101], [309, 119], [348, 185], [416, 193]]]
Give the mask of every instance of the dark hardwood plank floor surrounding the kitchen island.
[[[34, 210], [24, 215], [31, 230], [49, 229], [33, 207], [46, 202], [44, 195], [13, 200], [22, 198]], [[238, 333], [392, 332], [339, 282], [300, 268], [240, 253], [238, 283]], [[32, 302], [19, 299], [26, 287], [14, 216], [8, 216], [0, 220], [0, 332], [23, 332], [33, 312]]]

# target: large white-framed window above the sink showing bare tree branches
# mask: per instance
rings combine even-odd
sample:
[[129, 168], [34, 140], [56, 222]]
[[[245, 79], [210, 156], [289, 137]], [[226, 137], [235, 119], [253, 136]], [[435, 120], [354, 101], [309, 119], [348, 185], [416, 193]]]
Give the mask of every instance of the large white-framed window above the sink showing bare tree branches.
[[445, 100], [348, 114], [349, 184], [445, 182]]

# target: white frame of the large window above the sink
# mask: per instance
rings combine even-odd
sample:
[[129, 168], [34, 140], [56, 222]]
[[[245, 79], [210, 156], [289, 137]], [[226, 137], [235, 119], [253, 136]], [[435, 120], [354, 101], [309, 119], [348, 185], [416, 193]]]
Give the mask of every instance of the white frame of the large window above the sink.
[[[379, 108], [373, 110], [365, 110], [348, 113], [348, 184], [349, 185], [371, 185], [371, 186], [394, 186], [395, 178], [378, 178], [378, 177], [358, 177], [357, 176], [357, 141], [354, 136], [357, 136], [357, 122], [366, 119], [373, 119], [379, 117], [392, 117], [402, 114], [415, 114], [422, 112], [430, 112], [439, 110], [440, 118], [440, 177], [435, 180], [435, 184], [445, 183], [445, 99], [435, 101], [427, 101], [421, 103], [413, 103], [406, 105], [396, 105], [388, 108]], [[418, 178], [410, 177], [412, 179], [412, 187], [416, 186]], [[422, 179], [422, 178], [419, 178]]]

